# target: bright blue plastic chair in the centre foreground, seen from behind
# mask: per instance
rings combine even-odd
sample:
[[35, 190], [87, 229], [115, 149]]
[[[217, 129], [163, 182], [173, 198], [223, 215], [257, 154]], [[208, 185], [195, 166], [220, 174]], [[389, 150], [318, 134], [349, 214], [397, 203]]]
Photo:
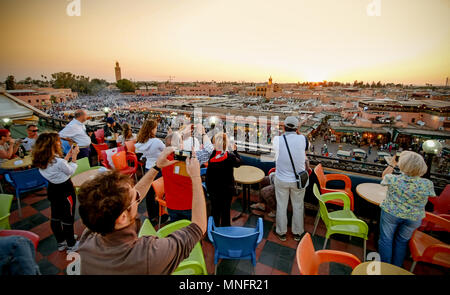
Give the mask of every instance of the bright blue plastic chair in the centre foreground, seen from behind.
[[213, 243], [214, 264], [219, 258], [249, 259], [256, 266], [256, 247], [263, 238], [263, 220], [258, 218], [256, 228], [241, 226], [216, 227], [212, 216], [208, 219], [208, 238]]

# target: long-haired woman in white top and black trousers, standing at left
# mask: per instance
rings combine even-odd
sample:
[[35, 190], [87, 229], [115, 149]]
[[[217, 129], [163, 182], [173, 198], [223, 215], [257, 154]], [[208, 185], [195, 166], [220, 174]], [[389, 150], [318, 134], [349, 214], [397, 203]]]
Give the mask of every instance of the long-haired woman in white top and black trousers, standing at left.
[[[71, 177], [77, 169], [80, 149], [73, 145], [63, 158], [58, 133], [39, 135], [33, 147], [33, 165], [48, 181], [47, 196], [50, 201], [50, 226], [58, 243], [58, 251], [76, 251], [78, 242], [74, 236], [76, 195]], [[69, 162], [70, 161], [70, 162]]]

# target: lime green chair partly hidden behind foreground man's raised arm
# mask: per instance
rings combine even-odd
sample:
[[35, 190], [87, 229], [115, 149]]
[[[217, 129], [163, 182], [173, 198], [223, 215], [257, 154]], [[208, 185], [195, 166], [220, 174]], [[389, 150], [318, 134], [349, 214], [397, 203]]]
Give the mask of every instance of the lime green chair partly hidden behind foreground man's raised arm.
[[[155, 232], [155, 229], [153, 228], [150, 221], [146, 219], [141, 229], [139, 230], [138, 236], [141, 237], [146, 235], [152, 235], [160, 238], [165, 238], [171, 233], [183, 227], [186, 227], [189, 224], [191, 224], [189, 220], [179, 220], [174, 223], [170, 223], [159, 229], [157, 232]], [[200, 242], [198, 242], [195, 245], [189, 257], [183, 260], [180, 263], [180, 265], [178, 265], [177, 269], [172, 273], [172, 275], [207, 275], [207, 274], [208, 271], [206, 270], [205, 258], [203, 256], [203, 249]]]

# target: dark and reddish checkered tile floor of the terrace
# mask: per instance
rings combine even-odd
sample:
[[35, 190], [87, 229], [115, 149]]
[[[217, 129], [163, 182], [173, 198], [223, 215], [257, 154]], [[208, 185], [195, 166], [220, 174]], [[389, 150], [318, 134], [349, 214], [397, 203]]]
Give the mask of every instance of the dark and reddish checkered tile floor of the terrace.
[[[252, 201], [257, 201], [257, 196], [252, 195]], [[17, 201], [14, 200], [11, 207], [10, 223], [13, 229], [30, 230], [40, 236], [40, 242], [37, 249], [36, 261], [43, 274], [65, 274], [65, 268], [70, 261], [66, 260], [65, 252], [56, 250], [56, 240], [50, 229], [50, 203], [43, 191], [30, 193], [21, 198], [22, 218], [19, 217], [17, 210]], [[311, 207], [311, 206], [307, 206]], [[241, 211], [241, 199], [235, 198], [232, 204], [231, 216], [235, 216]], [[255, 211], [258, 212], [258, 211]], [[139, 207], [141, 219], [147, 217], [145, 202]], [[312, 233], [316, 211], [313, 209], [305, 210], [305, 230]], [[235, 226], [254, 226], [257, 222], [257, 216], [244, 214], [244, 216], [234, 222]], [[275, 220], [264, 217], [264, 238], [256, 249], [256, 266], [253, 267], [250, 261], [246, 260], [222, 260], [219, 261], [217, 274], [257, 274], [257, 275], [298, 275], [299, 270], [295, 260], [295, 251], [298, 242], [294, 241], [291, 233], [287, 234], [287, 241], [282, 242], [274, 235]], [[85, 226], [76, 211], [75, 234], [81, 236]], [[324, 243], [325, 228], [320, 222], [317, 233], [312, 237], [316, 250], [322, 249]], [[362, 260], [363, 248], [362, 240], [347, 236], [336, 235], [332, 237], [327, 249], [341, 250], [350, 252]], [[375, 251], [373, 234], [370, 235], [367, 242], [367, 252]], [[210, 274], [214, 274], [214, 248], [213, 245], [204, 239], [202, 241], [203, 252]], [[407, 259], [405, 268], [409, 269], [411, 260]], [[350, 274], [351, 269], [345, 265], [337, 263], [326, 263], [321, 265], [320, 274]], [[415, 269], [416, 274], [423, 275], [442, 275], [449, 274], [448, 269], [434, 265], [419, 263]]]

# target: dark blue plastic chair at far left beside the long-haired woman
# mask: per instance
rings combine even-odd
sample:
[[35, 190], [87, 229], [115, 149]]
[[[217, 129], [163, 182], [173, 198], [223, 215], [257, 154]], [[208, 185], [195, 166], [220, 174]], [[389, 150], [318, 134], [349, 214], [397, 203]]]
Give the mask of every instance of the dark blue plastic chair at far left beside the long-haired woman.
[[22, 208], [20, 206], [20, 194], [39, 188], [47, 187], [47, 180], [39, 173], [38, 168], [24, 171], [9, 171], [5, 173], [5, 179], [16, 190], [17, 205], [19, 207], [19, 216], [22, 217]]

